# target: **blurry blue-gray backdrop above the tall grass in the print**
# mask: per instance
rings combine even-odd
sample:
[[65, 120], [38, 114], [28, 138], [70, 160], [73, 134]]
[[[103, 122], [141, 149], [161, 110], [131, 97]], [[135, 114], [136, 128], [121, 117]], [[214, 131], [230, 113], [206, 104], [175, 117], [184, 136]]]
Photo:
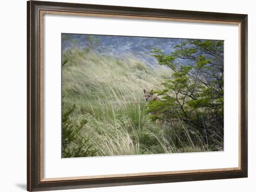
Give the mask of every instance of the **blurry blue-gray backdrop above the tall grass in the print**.
[[94, 51], [99, 54], [111, 55], [118, 59], [134, 56], [137, 60], [145, 62], [148, 66], [157, 66], [157, 61], [151, 56], [151, 47], [161, 48], [166, 54], [174, 51], [174, 46], [186, 39], [130, 37], [112, 35], [88, 35], [62, 33], [62, 50], [70, 48], [84, 49], [90, 46], [88, 36], [97, 40]]

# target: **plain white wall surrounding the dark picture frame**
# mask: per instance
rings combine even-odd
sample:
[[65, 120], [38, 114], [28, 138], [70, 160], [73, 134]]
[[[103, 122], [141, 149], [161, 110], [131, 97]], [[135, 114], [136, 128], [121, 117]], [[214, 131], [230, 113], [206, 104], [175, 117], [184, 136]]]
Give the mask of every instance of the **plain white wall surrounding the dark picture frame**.
[[[54, 0], [49, 0], [54, 1]], [[67, 192], [254, 192], [256, 181], [256, 12], [252, 0], [55, 0], [89, 4], [249, 14], [249, 178], [133, 185]], [[26, 0], [0, 1], [0, 191], [26, 191]], [[64, 192], [64, 191], [63, 191]]]

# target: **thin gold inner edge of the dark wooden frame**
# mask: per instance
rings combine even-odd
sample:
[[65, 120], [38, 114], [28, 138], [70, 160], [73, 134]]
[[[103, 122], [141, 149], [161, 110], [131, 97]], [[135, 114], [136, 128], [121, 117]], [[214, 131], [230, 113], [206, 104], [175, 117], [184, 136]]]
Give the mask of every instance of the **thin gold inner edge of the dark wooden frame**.
[[[122, 19], [141, 19], [141, 20], [164, 20], [164, 21], [176, 21], [176, 22], [197, 22], [197, 23], [215, 23], [215, 24], [226, 24], [226, 25], [238, 25], [239, 30], [239, 146], [238, 146], [238, 167], [232, 168], [217, 168], [217, 169], [201, 169], [201, 170], [185, 170], [185, 171], [166, 171], [166, 172], [142, 172], [142, 173], [128, 173], [128, 174], [110, 174], [110, 175], [94, 175], [94, 176], [81, 176], [81, 177], [61, 177], [61, 178], [43, 178], [43, 15], [44, 14], [56, 14], [56, 15], [77, 15], [77, 16], [88, 16], [88, 17], [107, 17], [107, 18], [122, 18]], [[39, 64], [40, 64], [40, 182], [54, 182], [54, 181], [68, 181], [68, 180], [94, 180], [94, 179], [110, 179], [110, 178], [122, 178], [122, 177], [140, 177], [140, 176], [157, 176], [157, 175], [172, 175], [172, 174], [192, 174], [192, 173], [209, 173], [209, 172], [234, 172], [242, 171], [242, 148], [241, 148], [241, 131], [242, 131], [242, 121], [241, 121], [241, 65], [242, 65], [242, 23], [240, 21], [232, 20], [202, 20], [202, 19], [188, 19], [188, 18], [172, 18], [172, 17], [155, 17], [148, 15], [128, 15], [128, 14], [111, 14], [111, 13], [87, 13], [87, 12], [68, 12], [68, 11], [54, 11], [54, 10], [39, 10], [39, 20], [40, 20], [40, 53], [39, 53]]]

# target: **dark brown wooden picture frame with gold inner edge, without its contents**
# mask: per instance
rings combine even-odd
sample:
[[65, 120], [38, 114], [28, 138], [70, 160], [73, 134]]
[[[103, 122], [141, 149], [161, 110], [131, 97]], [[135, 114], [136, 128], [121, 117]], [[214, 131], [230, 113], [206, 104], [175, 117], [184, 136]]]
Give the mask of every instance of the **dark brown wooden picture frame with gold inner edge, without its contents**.
[[[104, 177], [43, 178], [43, 14], [103, 16], [237, 24], [240, 29], [240, 150], [238, 168], [127, 174]], [[139, 7], [116, 7], [61, 2], [27, 1], [27, 191], [76, 189], [118, 185], [244, 178], [248, 174], [247, 152], [247, 24], [246, 14], [209, 13]]]

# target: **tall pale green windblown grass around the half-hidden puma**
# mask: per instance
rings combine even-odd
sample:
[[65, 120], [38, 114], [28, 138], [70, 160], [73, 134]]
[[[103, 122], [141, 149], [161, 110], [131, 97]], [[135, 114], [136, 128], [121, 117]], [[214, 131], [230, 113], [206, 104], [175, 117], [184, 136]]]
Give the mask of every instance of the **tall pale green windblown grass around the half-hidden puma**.
[[132, 55], [116, 59], [81, 49], [64, 51], [62, 61], [62, 110], [75, 105], [74, 125], [87, 120], [78, 136], [96, 156], [209, 150], [202, 136], [181, 122], [158, 125], [145, 113], [143, 89], [162, 89], [170, 69], [148, 67]]

